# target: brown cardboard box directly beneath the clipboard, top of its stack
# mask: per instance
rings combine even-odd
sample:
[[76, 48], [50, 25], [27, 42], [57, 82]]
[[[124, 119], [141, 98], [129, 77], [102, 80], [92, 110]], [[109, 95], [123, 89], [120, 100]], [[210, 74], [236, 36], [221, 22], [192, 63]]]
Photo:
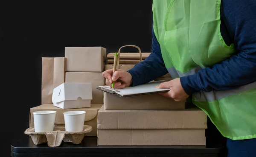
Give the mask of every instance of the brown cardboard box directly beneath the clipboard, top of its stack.
[[105, 92], [104, 109], [185, 109], [185, 101], [177, 102], [158, 93], [121, 98]]

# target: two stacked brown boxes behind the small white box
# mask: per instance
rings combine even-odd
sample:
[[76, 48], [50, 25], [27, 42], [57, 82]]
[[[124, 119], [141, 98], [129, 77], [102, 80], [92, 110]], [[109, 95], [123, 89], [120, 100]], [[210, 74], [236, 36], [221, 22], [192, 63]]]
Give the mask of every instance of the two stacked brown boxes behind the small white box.
[[102, 47], [66, 47], [65, 82], [92, 84], [92, 104], [103, 104], [103, 93], [96, 89], [105, 84], [102, 72], [105, 70], [106, 48]]

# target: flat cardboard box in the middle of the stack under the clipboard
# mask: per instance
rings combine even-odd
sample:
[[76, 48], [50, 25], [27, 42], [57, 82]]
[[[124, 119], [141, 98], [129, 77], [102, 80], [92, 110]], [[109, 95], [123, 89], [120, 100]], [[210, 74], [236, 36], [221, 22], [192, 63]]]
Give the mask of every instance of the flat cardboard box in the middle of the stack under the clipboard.
[[201, 109], [105, 110], [98, 112], [98, 129], [207, 129]]

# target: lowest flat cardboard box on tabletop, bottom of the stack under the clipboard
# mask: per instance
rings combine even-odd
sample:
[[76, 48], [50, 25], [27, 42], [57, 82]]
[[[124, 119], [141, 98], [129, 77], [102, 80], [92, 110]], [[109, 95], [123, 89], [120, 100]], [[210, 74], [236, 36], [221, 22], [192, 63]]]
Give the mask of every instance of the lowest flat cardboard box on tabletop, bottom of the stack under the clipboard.
[[205, 129], [98, 129], [99, 146], [205, 146]]

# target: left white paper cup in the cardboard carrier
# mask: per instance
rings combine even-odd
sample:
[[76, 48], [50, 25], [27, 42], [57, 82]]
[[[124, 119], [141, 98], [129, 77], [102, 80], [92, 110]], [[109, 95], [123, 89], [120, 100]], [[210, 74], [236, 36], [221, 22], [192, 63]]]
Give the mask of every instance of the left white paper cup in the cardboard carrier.
[[36, 111], [33, 115], [35, 132], [53, 131], [56, 111]]

